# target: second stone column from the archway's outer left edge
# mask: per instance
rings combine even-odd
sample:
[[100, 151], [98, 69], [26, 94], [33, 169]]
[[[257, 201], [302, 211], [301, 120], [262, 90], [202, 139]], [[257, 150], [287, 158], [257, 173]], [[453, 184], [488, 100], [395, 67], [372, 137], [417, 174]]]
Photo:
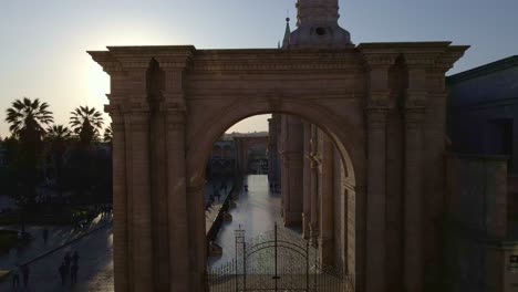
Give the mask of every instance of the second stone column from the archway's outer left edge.
[[149, 112], [133, 108], [127, 114], [131, 124], [133, 189], [132, 244], [134, 291], [154, 289], [152, 200], [149, 182]]

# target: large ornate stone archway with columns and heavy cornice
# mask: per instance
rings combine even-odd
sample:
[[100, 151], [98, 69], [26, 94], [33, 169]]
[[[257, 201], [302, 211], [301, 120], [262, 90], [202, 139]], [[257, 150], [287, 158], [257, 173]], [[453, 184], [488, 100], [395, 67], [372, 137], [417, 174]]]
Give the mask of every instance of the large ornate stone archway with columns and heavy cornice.
[[356, 291], [441, 282], [444, 74], [466, 49], [90, 52], [112, 80], [116, 291], [204, 290], [205, 161], [231, 124], [269, 112], [320, 126], [354, 167]]

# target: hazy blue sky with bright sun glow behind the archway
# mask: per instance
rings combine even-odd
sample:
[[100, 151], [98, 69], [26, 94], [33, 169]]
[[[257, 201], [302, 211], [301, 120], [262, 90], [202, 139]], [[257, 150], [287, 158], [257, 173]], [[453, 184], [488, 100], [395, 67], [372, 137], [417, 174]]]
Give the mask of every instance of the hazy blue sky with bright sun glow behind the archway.
[[[453, 41], [472, 49], [456, 73], [518, 54], [518, 0], [341, 0], [354, 43]], [[106, 45], [277, 48], [294, 0], [0, 0], [0, 136], [22, 96], [68, 123], [77, 105], [102, 109], [108, 77], [85, 53]], [[291, 21], [294, 28], [294, 21]], [[265, 131], [265, 118], [232, 131]]]

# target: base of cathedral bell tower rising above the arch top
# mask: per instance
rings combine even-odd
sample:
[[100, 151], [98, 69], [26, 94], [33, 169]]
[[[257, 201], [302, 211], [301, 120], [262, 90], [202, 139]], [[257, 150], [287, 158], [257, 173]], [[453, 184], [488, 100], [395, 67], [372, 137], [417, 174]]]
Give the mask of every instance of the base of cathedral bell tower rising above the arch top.
[[340, 28], [338, 0], [298, 0], [297, 30], [289, 49], [340, 49], [353, 46], [351, 34]]

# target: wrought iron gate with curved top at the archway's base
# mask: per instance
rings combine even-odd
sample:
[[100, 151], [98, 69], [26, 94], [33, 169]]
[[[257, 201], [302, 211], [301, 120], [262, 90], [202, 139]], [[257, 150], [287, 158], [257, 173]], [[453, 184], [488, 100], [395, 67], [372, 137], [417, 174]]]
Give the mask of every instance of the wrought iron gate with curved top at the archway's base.
[[318, 250], [277, 228], [250, 241], [236, 230], [236, 258], [209, 269], [209, 291], [353, 291], [343, 271], [319, 264]]

